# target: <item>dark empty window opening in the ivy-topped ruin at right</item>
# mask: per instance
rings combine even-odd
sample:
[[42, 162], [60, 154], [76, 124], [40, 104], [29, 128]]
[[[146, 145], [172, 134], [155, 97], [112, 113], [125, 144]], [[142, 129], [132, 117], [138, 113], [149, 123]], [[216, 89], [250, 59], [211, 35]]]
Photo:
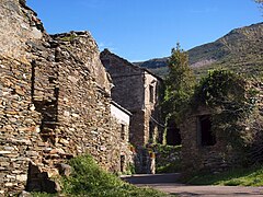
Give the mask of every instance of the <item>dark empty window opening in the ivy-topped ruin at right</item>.
[[203, 147], [216, 144], [216, 136], [211, 131], [211, 120], [209, 115], [198, 117], [198, 134]]

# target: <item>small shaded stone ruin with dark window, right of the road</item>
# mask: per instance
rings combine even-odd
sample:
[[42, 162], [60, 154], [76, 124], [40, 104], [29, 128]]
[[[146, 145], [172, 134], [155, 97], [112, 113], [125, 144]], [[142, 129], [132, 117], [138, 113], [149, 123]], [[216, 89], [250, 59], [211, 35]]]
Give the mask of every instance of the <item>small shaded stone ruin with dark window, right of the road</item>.
[[210, 109], [199, 107], [180, 127], [185, 173], [201, 170], [218, 172], [230, 165], [230, 152], [225, 141], [214, 135], [210, 118]]

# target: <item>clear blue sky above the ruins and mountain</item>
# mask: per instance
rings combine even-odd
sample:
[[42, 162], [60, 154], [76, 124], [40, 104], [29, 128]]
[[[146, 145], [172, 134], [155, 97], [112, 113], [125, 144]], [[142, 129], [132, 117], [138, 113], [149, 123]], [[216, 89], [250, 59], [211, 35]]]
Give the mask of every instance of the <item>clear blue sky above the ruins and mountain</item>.
[[253, 0], [27, 0], [49, 34], [89, 31], [129, 61], [168, 57], [262, 22]]

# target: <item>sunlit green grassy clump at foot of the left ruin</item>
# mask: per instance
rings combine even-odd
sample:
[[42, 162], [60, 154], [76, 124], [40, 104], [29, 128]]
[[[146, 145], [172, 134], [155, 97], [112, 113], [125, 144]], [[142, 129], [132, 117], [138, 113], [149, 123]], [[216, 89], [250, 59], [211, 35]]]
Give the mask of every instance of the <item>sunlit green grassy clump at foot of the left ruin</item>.
[[[92, 157], [82, 155], [70, 160], [73, 172], [69, 177], [62, 177], [62, 195], [89, 197], [162, 197], [161, 192], [151, 188], [138, 188], [123, 182], [116, 175], [100, 169]], [[34, 194], [36, 197], [52, 197], [47, 194]]]

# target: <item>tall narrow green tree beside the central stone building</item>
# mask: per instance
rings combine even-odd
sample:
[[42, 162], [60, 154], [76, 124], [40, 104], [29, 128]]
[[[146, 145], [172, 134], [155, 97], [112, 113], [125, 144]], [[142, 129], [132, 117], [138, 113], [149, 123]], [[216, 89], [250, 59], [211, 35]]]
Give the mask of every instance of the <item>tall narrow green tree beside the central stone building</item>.
[[180, 44], [172, 49], [168, 66], [163, 111], [167, 120], [174, 118], [179, 125], [195, 86], [195, 77], [188, 66], [188, 55], [180, 48]]

